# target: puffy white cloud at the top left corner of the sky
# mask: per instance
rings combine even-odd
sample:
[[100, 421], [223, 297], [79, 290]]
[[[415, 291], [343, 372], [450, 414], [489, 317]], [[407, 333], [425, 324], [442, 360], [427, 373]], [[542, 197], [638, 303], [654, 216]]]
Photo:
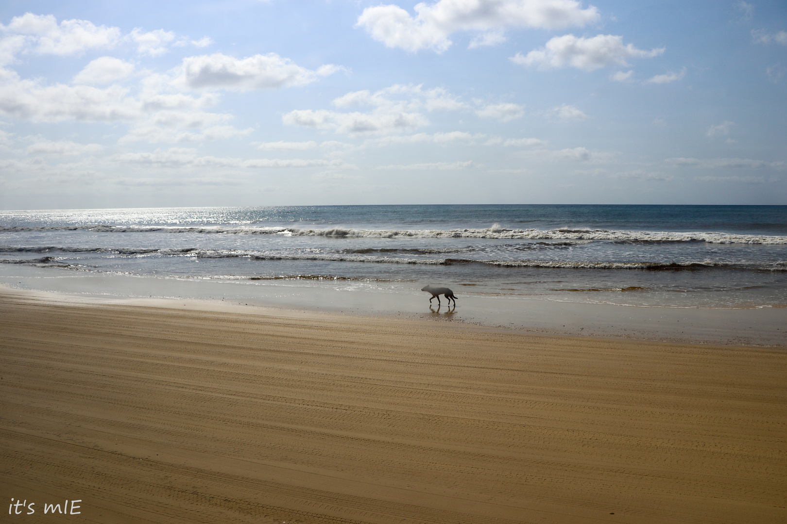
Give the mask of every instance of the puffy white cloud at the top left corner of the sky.
[[61, 56], [82, 53], [87, 49], [111, 49], [120, 41], [120, 29], [117, 27], [96, 26], [88, 20], [62, 20], [57, 24], [53, 15], [33, 13], [14, 16], [8, 25], [0, 24], [0, 31], [27, 36], [34, 44], [32, 50], [35, 53]]

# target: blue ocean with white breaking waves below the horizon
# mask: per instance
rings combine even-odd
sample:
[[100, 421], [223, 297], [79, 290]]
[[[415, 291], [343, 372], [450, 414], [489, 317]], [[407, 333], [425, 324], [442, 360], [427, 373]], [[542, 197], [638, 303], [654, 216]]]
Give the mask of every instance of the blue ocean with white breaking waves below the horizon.
[[[0, 281], [118, 297], [296, 290], [787, 306], [787, 206], [406, 205], [0, 211]], [[275, 292], [274, 292], [275, 291]], [[423, 295], [423, 296], [421, 296]]]

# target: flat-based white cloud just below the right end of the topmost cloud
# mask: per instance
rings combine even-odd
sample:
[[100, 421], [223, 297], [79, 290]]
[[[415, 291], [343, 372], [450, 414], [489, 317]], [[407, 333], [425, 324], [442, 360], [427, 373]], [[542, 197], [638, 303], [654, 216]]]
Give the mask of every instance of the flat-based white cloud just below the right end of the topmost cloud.
[[537, 66], [541, 69], [572, 68], [593, 71], [608, 65], [629, 65], [626, 60], [633, 58], [651, 58], [664, 52], [663, 47], [645, 51], [637, 49], [633, 44], [623, 45], [623, 37], [615, 35], [597, 35], [593, 38], [576, 37], [574, 35], [556, 36], [546, 42], [541, 49], [534, 49], [522, 56], [516, 53], [511, 60], [515, 64]]

